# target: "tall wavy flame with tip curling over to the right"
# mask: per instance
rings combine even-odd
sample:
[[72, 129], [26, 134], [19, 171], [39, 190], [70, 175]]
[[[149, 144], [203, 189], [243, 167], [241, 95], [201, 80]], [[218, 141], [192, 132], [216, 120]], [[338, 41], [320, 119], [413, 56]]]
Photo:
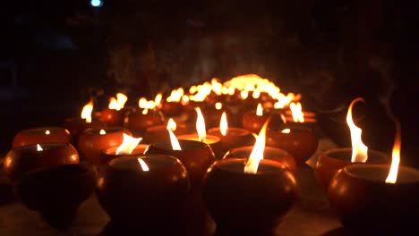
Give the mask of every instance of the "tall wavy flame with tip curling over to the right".
[[351, 142], [352, 142], [352, 157], [351, 162], [366, 162], [368, 159], [368, 147], [363, 144], [363, 140], [361, 139], [361, 135], [363, 130], [357, 127], [352, 119], [352, 107], [355, 105], [356, 102], [363, 102], [362, 97], [355, 98], [352, 101], [351, 105], [347, 109], [346, 114], [346, 122], [349, 126], [349, 130], [351, 131]]

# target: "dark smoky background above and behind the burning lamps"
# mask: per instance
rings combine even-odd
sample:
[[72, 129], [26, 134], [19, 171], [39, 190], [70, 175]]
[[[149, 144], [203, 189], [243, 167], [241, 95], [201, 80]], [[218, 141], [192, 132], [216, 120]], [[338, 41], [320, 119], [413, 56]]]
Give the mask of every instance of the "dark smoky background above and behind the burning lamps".
[[[367, 145], [419, 165], [414, 1], [13, 1], [0, 8], [0, 150], [24, 128], [61, 125], [91, 95], [135, 104], [212, 77], [257, 73], [322, 113], [366, 100]], [[100, 103], [102, 101], [103, 103]], [[346, 108], [345, 108], [346, 109]]]

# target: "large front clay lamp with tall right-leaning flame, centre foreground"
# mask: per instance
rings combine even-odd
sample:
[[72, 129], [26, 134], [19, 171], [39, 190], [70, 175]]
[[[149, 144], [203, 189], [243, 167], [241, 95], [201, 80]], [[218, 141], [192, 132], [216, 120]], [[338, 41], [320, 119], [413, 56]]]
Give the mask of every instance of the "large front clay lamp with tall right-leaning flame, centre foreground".
[[268, 122], [248, 160], [218, 160], [205, 174], [202, 198], [222, 235], [271, 235], [297, 197], [294, 174], [263, 159], [267, 126]]

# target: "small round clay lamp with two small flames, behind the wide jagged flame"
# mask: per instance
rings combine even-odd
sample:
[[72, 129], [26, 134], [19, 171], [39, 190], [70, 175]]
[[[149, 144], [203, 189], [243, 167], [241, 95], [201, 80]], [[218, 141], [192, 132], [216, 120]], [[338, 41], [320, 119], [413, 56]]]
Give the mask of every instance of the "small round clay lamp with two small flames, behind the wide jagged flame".
[[162, 115], [156, 110], [161, 102], [160, 96], [156, 96], [155, 101], [141, 97], [138, 103], [141, 110], [136, 110], [125, 118], [124, 126], [132, 131], [134, 136], [143, 136], [148, 127], [163, 123]]

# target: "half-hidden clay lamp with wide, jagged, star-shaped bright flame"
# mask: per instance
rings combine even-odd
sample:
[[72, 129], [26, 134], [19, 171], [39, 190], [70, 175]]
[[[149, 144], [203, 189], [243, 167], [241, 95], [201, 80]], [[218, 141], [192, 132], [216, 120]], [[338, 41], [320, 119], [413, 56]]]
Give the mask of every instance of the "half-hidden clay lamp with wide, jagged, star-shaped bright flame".
[[123, 138], [123, 142], [119, 146], [108, 147], [102, 151], [103, 163], [108, 163], [120, 156], [141, 155], [149, 147], [148, 144], [140, 144], [142, 138], [134, 138], [126, 133], [123, 133]]

